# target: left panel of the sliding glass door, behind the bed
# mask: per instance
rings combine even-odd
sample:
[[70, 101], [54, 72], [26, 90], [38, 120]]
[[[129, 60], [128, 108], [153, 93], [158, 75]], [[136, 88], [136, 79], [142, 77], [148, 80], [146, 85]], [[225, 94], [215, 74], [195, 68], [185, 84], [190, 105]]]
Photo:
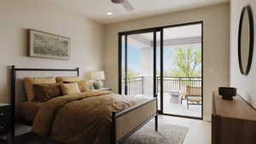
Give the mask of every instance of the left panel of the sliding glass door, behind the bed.
[[122, 95], [154, 96], [154, 38], [154, 31], [130, 33], [119, 37]]

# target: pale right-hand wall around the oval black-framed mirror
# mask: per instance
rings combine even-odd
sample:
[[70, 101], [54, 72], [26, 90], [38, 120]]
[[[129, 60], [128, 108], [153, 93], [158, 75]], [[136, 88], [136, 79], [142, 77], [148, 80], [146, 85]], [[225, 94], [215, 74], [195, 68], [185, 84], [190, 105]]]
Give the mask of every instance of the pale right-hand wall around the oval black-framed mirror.
[[[251, 71], [243, 76], [239, 70], [237, 41], [238, 26], [241, 9], [249, 4], [253, 10], [254, 22], [254, 49]], [[238, 94], [244, 97], [249, 103], [256, 107], [256, 1], [255, 0], [231, 0], [230, 3], [230, 85], [236, 87]]]

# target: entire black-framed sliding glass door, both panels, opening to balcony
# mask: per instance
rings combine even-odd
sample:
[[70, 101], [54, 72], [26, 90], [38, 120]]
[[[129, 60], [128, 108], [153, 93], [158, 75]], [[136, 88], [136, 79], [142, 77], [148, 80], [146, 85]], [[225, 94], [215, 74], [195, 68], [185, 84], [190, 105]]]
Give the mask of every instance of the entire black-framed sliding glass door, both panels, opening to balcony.
[[161, 114], [202, 118], [202, 22], [119, 33], [119, 94], [158, 98]]

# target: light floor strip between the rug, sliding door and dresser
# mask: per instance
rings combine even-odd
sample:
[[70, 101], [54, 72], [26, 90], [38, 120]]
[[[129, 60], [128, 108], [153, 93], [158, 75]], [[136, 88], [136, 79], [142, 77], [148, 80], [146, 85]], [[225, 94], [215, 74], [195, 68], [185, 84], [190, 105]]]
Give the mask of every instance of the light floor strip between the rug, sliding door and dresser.
[[189, 132], [183, 144], [211, 144], [211, 123], [203, 120], [178, 118], [171, 116], [159, 116], [159, 122], [189, 127]]

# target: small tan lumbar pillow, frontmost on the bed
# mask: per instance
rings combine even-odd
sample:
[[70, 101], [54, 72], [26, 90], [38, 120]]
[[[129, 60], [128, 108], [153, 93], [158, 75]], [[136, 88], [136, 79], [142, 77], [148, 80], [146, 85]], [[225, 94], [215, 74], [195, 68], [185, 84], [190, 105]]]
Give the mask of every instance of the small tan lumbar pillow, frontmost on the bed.
[[81, 93], [81, 90], [79, 89], [79, 84], [77, 83], [61, 84], [61, 91], [63, 95]]

